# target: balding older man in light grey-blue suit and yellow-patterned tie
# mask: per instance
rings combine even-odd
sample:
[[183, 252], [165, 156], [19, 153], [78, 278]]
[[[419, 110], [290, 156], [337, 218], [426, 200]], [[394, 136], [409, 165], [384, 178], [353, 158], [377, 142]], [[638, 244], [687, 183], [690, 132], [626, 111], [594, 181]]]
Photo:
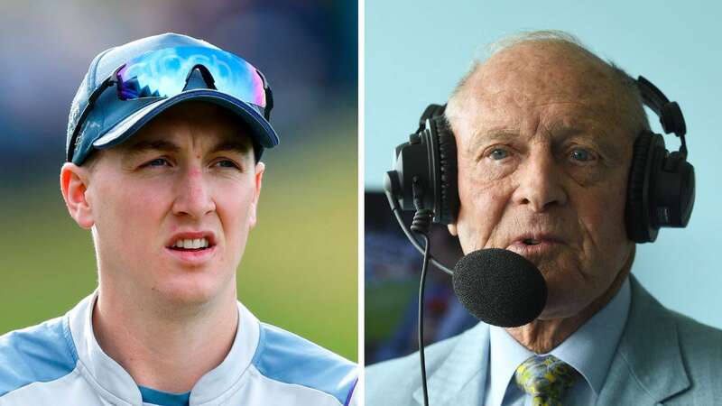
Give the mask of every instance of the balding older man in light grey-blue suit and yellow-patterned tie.
[[[519, 328], [480, 323], [426, 351], [431, 405], [714, 404], [722, 332], [630, 275], [625, 198], [649, 128], [634, 80], [569, 35], [535, 32], [477, 63], [449, 98], [465, 254], [504, 248], [549, 297]], [[366, 373], [372, 405], [422, 403], [418, 355]]]

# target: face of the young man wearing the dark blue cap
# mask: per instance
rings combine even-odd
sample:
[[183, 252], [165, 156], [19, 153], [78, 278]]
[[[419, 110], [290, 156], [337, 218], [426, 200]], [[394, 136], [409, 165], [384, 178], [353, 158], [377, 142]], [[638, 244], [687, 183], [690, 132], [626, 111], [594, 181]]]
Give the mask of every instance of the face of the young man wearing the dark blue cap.
[[264, 173], [247, 131], [222, 107], [187, 102], [97, 152], [79, 224], [92, 226], [101, 289], [235, 297]]

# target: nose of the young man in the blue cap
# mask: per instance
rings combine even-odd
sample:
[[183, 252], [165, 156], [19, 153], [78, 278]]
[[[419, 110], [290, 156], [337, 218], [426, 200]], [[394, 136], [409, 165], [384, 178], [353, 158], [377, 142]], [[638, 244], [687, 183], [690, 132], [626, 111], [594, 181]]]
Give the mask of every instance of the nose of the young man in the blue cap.
[[178, 216], [202, 218], [216, 209], [210, 185], [199, 169], [190, 169], [181, 175], [176, 187], [173, 213]]

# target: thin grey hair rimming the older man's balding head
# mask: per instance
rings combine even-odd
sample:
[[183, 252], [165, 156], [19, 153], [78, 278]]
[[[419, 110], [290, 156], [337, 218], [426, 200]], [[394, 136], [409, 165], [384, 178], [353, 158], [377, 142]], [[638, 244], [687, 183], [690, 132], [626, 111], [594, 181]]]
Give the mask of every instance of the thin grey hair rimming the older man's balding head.
[[481, 56], [475, 58], [471, 63], [471, 67], [467, 70], [467, 73], [458, 81], [457, 86], [452, 90], [449, 95], [449, 102], [446, 109], [446, 118], [450, 122], [453, 117], [458, 116], [462, 102], [459, 100], [459, 94], [467, 81], [471, 76], [486, 62], [489, 58], [495, 54], [513, 48], [519, 44], [528, 42], [551, 42], [558, 43], [561, 45], [568, 46], [571, 49], [576, 49], [583, 54], [587, 55], [592, 60], [596, 60], [600, 65], [606, 66], [611, 69], [613, 77], [618, 80], [623, 91], [625, 91], [627, 97], [633, 100], [633, 111], [631, 112], [632, 118], [638, 125], [642, 125], [644, 129], [649, 130], [649, 119], [643, 108], [642, 95], [637, 87], [637, 82], [634, 78], [629, 76], [624, 69], [616, 66], [611, 60], [603, 60], [592, 51], [589, 51], [579, 38], [569, 32], [560, 30], [539, 30], [530, 32], [517, 32], [511, 35], [504, 36], [503, 38], [488, 44]]

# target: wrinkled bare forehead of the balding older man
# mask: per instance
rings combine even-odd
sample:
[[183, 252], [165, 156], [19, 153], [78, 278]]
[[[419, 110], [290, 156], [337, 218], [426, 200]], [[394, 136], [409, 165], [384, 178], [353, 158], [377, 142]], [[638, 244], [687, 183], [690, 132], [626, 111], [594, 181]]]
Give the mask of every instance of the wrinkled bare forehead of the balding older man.
[[[452, 125], [462, 135], [523, 126], [629, 126], [628, 100], [615, 72], [583, 50], [516, 45], [479, 65], [458, 92]], [[626, 110], [625, 110], [626, 109]]]

